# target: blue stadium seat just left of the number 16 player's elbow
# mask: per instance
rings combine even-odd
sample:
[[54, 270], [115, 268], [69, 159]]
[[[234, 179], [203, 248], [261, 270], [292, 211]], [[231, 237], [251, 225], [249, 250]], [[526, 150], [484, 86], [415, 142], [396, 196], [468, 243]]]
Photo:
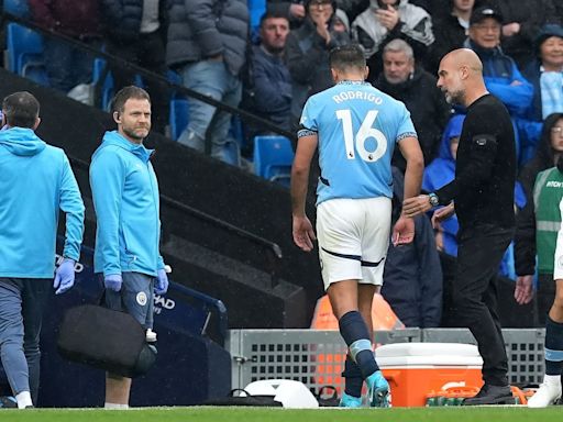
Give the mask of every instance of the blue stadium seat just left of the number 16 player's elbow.
[[289, 186], [294, 163], [291, 142], [285, 136], [254, 136], [254, 173]]

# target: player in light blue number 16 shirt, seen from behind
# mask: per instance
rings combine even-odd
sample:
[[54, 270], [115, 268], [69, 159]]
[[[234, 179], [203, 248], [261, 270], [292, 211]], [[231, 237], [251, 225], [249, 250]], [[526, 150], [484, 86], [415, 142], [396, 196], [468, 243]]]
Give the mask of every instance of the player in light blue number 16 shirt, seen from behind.
[[[330, 67], [336, 85], [309, 98], [301, 115], [291, 169], [294, 242], [306, 252], [313, 248], [305, 202], [319, 147], [319, 257], [324, 289], [349, 346], [340, 404], [361, 407], [365, 380], [369, 404], [389, 407], [389, 386], [373, 353], [372, 300], [383, 284], [389, 244], [394, 148], [407, 160], [405, 198], [420, 191], [422, 152], [405, 104], [365, 82], [368, 68], [358, 45], [333, 49]], [[394, 243], [410, 243], [413, 236], [413, 221], [399, 218]]]

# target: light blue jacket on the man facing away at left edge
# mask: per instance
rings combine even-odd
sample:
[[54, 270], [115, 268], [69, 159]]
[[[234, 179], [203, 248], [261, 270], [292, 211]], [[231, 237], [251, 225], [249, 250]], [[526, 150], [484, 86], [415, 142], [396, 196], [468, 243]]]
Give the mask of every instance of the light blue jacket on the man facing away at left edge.
[[31, 129], [0, 131], [0, 277], [53, 278], [59, 210], [63, 254], [78, 260], [84, 203], [64, 151]]

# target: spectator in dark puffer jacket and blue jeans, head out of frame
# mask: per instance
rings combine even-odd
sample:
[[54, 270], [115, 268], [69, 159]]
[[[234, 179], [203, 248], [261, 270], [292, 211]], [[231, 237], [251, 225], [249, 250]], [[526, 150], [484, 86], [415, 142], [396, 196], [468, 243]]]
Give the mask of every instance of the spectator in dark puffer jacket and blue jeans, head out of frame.
[[[178, 70], [187, 88], [238, 107], [249, 38], [246, 0], [174, 0], [168, 16], [167, 65]], [[227, 147], [238, 148], [228, 136], [231, 114], [194, 98], [188, 101], [188, 126], [178, 142], [230, 162]]]

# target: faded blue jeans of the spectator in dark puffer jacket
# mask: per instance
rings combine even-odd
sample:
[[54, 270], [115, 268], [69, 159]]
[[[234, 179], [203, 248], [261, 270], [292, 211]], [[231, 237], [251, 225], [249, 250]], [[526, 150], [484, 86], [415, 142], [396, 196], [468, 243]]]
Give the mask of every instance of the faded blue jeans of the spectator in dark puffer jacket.
[[[180, 73], [184, 85], [189, 89], [231, 107], [238, 107], [241, 102], [241, 80], [229, 71], [224, 62], [201, 60], [189, 63], [184, 66]], [[212, 157], [239, 165], [239, 147], [234, 140], [228, 138], [231, 114], [219, 111], [213, 106], [194, 98], [188, 98], [188, 126], [180, 134], [178, 142], [197, 151], [205, 152], [206, 136], [208, 136]], [[235, 163], [233, 163], [233, 158], [228, 153], [229, 148], [232, 148], [233, 143], [236, 145]]]

